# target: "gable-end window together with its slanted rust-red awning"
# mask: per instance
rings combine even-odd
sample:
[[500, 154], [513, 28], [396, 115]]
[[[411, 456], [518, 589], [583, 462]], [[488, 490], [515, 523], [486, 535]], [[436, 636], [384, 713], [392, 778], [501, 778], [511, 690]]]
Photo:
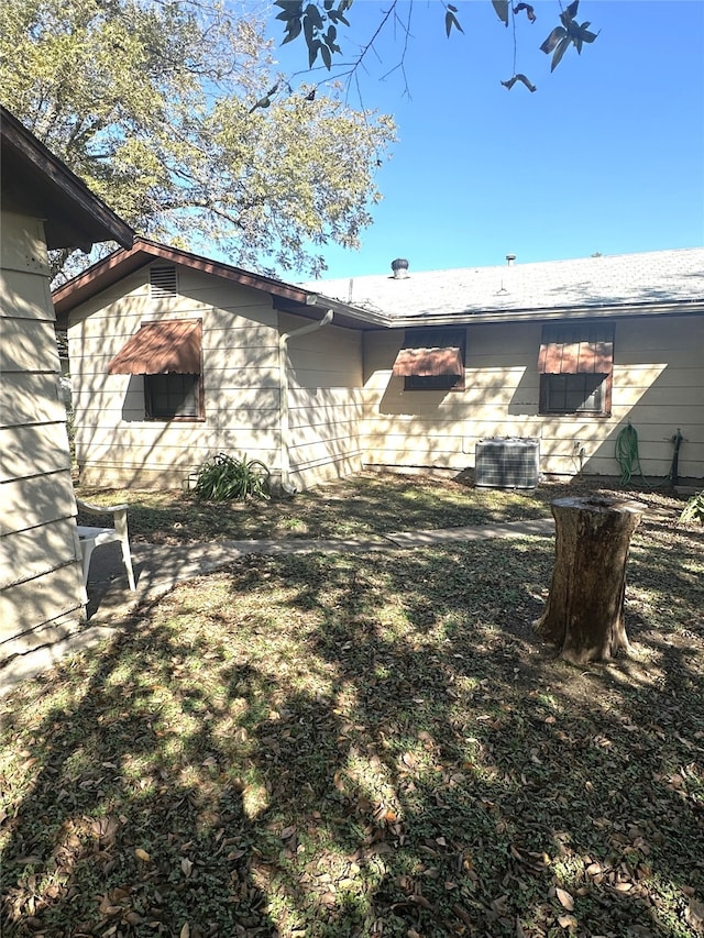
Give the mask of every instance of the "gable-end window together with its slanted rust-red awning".
[[111, 375], [144, 375], [147, 420], [202, 420], [202, 322], [145, 322], [108, 365]]

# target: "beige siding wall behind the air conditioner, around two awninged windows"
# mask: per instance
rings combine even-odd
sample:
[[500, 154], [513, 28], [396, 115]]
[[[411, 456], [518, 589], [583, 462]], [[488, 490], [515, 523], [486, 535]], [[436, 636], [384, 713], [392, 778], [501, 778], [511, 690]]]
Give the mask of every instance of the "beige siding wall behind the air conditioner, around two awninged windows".
[[[403, 330], [364, 341], [365, 465], [460, 471], [474, 466], [476, 443], [491, 437], [540, 440], [546, 474], [619, 475], [616, 439], [628, 424], [639, 437], [642, 472], [670, 471], [678, 428], [681, 477], [704, 476], [704, 317], [615, 320], [612, 416], [542, 416], [538, 353], [541, 324], [468, 327], [465, 390], [405, 391], [392, 376]], [[580, 453], [582, 452], [581, 456]]]

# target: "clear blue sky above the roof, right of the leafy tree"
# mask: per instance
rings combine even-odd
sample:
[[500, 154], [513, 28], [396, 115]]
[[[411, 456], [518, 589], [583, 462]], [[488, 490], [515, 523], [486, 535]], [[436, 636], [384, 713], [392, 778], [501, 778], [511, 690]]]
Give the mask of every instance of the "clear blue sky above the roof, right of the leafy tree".
[[[446, 37], [438, 0], [415, 0], [405, 76], [380, 80], [402, 56], [393, 31], [376, 45], [381, 62], [360, 75], [364, 106], [394, 114], [399, 142], [362, 249], [326, 249], [326, 276], [384, 273], [398, 256], [441, 269], [502, 264], [509, 253], [527, 263], [704, 243], [701, 0], [582, 0], [578, 20], [600, 36], [552, 74], [538, 46], [560, 7], [534, 0], [537, 22], [517, 18], [516, 70], [535, 93], [501, 85], [513, 74], [513, 30], [488, 0], [454, 5], [463, 35]], [[352, 30], [339, 37], [345, 58], [386, 7], [355, 0]], [[288, 69], [307, 63], [302, 41], [277, 55]], [[354, 90], [350, 102], [359, 104]]]

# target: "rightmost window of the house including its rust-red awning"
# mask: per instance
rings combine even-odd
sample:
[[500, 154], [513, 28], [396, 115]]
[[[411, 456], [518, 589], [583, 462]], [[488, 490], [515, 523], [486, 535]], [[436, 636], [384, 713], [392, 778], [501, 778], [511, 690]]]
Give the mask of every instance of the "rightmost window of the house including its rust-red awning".
[[609, 417], [613, 364], [613, 323], [543, 325], [540, 413]]

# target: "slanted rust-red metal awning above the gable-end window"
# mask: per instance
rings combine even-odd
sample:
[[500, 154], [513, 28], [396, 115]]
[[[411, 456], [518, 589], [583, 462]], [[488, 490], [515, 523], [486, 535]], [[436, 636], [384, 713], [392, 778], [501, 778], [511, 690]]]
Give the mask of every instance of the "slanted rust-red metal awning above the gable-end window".
[[111, 375], [199, 375], [202, 322], [145, 322], [108, 365]]

